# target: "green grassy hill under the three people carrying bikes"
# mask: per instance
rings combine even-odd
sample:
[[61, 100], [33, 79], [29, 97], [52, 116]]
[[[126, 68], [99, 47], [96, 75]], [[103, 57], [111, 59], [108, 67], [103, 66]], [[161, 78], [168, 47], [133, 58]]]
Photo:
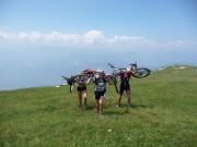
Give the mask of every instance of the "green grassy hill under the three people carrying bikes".
[[94, 85], [89, 108], [78, 109], [68, 86], [0, 91], [0, 146], [136, 147], [197, 146], [197, 72], [169, 66], [130, 81], [134, 108], [116, 108], [107, 85], [104, 117], [95, 114]]

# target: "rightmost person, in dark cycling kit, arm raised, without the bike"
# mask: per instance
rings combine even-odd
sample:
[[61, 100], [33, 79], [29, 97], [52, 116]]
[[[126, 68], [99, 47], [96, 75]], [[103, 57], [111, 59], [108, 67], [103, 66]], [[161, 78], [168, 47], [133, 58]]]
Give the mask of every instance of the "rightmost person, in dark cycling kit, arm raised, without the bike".
[[119, 86], [119, 93], [118, 93], [118, 103], [116, 106], [117, 108], [120, 107], [121, 96], [124, 94], [124, 90], [127, 93], [128, 107], [132, 107], [131, 106], [131, 90], [130, 90], [129, 79], [130, 79], [130, 76], [132, 74], [135, 74], [136, 72], [137, 72], [137, 69], [135, 72], [131, 72], [131, 69], [127, 68], [125, 72], [119, 73], [120, 86]]

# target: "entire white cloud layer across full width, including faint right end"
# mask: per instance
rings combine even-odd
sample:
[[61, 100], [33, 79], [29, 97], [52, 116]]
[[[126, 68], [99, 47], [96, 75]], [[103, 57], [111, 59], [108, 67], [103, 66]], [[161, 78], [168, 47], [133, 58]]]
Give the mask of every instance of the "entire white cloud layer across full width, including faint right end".
[[134, 36], [114, 36], [106, 38], [100, 30], [90, 30], [86, 34], [62, 34], [53, 32], [51, 34], [42, 34], [39, 32], [21, 32], [8, 33], [0, 29], [0, 44], [9, 47], [14, 45], [33, 45], [33, 46], [120, 46], [120, 47], [178, 47], [194, 48], [197, 47], [197, 40], [172, 40], [169, 42], [159, 42], [144, 37]]

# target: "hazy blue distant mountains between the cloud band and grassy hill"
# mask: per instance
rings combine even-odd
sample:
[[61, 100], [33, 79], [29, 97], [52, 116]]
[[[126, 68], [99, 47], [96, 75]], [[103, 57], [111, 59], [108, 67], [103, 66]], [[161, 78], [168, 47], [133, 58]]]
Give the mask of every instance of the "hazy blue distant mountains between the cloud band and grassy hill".
[[160, 60], [160, 56], [157, 58], [146, 57], [146, 54], [139, 56], [131, 51], [120, 52], [100, 49], [68, 51], [66, 49], [42, 48], [36, 50], [21, 49], [20, 51], [1, 50], [1, 52], [0, 90], [61, 85], [65, 83], [61, 75], [79, 74], [88, 68], [94, 70], [103, 68], [106, 73], [111, 73], [112, 69], [107, 66], [107, 63], [126, 68], [129, 63], [137, 61], [138, 66], [148, 68], [152, 71], [173, 64], [197, 66], [197, 62], [193, 61], [188, 63], [172, 62], [169, 57]]

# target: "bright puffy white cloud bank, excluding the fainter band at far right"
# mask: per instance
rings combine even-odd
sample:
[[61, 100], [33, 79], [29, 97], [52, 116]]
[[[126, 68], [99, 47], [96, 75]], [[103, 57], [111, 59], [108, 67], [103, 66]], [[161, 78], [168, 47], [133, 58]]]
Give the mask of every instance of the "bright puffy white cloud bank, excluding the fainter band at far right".
[[79, 34], [62, 34], [59, 32], [53, 32], [51, 34], [42, 34], [38, 32], [21, 32], [21, 33], [7, 33], [3, 30], [0, 30], [0, 40], [10, 40], [14, 42], [39, 42], [40, 45], [43, 42], [59, 42], [61, 45], [67, 44], [76, 44], [79, 45], [92, 45], [92, 44], [101, 44], [101, 45], [116, 45], [119, 42], [124, 44], [130, 44], [130, 42], [146, 42], [146, 39], [143, 37], [127, 37], [127, 36], [114, 36], [112, 38], [106, 38], [104, 34], [100, 30], [90, 30], [84, 35]]

